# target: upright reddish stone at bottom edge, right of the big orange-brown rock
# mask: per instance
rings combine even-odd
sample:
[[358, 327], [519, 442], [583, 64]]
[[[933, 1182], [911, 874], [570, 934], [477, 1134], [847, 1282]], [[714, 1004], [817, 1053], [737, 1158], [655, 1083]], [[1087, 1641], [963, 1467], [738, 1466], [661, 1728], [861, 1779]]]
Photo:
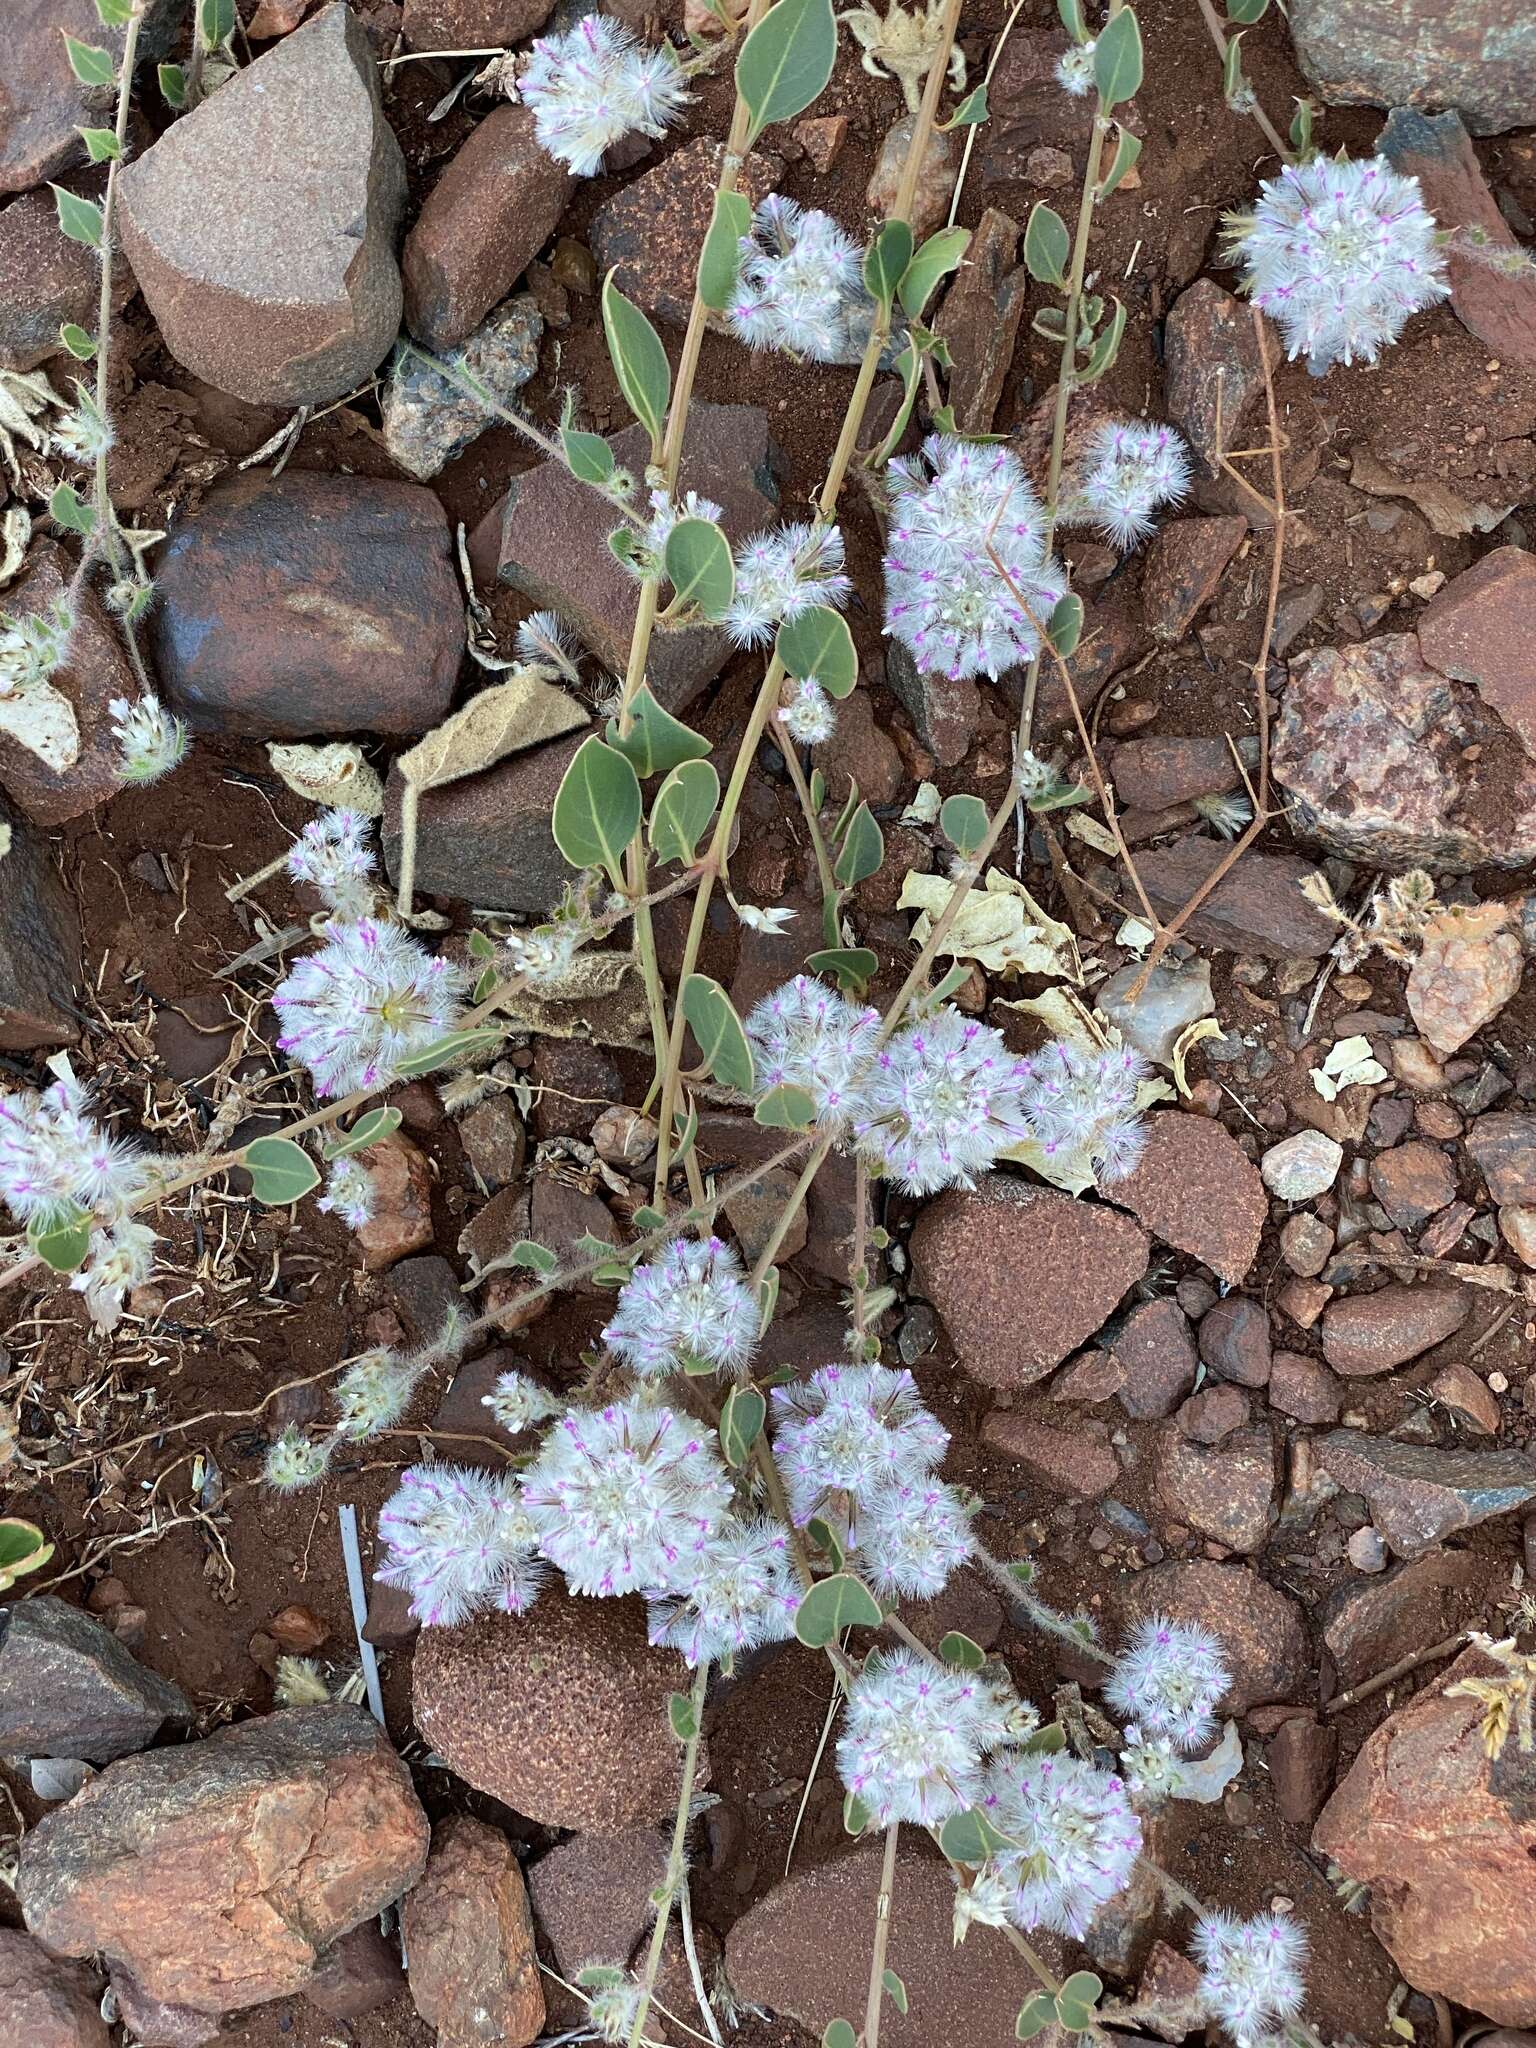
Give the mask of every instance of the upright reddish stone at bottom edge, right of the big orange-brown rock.
[[512, 1843], [455, 1815], [432, 1829], [401, 1935], [416, 2011], [440, 2048], [526, 2048], [545, 2025], [528, 1888]]

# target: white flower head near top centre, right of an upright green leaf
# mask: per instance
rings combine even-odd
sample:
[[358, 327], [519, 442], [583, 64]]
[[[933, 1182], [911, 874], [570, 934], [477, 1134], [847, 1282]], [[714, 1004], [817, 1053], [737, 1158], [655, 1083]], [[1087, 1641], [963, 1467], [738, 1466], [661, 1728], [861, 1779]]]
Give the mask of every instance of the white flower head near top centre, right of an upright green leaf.
[[811, 362], [854, 360], [874, 301], [858, 246], [827, 213], [772, 193], [741, 240], [741, 270], [725, 319], [752, 348], [780, 348]]

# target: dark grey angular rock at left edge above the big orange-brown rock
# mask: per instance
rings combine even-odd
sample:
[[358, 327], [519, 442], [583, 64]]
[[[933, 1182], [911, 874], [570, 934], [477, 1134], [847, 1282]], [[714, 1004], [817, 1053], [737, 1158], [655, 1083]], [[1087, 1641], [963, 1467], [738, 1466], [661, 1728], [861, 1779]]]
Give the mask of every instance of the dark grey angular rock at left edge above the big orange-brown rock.
[[111, 1763], [188, 1724], [180, 1686], [137, 1663], [111, 1628], [35, 1593], [0, 1608], [0, 1755]]

